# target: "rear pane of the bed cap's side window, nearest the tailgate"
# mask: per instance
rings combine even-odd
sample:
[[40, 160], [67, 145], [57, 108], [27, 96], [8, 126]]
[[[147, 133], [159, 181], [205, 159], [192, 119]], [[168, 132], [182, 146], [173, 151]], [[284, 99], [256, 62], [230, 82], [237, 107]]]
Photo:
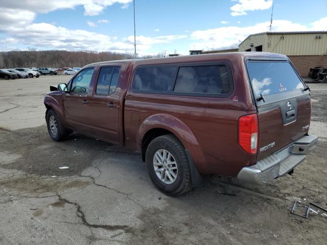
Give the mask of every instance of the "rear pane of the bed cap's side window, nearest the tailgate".
[[225, 65], [180, 67], [174, 91], [182, 93], [229, 93], [227, 68]]

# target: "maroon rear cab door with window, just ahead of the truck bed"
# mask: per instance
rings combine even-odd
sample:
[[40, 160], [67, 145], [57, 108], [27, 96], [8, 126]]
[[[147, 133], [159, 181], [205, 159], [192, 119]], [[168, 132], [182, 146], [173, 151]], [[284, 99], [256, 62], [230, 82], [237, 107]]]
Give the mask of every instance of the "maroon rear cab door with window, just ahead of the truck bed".
[[121, 68], [122, 64], [100, 68], [88, 104], [91, 134], [115, 143], [119, 143]]

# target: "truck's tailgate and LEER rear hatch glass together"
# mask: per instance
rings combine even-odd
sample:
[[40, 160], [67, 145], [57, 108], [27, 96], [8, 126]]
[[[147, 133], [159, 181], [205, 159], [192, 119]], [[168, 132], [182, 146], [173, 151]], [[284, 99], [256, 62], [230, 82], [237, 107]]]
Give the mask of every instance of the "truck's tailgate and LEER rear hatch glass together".
[[246, 66], [258, 108], [260, 160], [308, 133], [310, 92], [288, 59], [248, 59]]

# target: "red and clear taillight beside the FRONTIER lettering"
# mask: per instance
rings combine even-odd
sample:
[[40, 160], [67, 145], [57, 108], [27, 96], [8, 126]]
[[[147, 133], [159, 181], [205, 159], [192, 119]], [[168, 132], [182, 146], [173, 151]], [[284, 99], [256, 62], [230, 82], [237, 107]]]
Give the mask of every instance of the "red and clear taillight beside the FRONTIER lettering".
[[258, 151], [258, 116], [250, 114], [239, 118], [239, 145], [249, 154]]

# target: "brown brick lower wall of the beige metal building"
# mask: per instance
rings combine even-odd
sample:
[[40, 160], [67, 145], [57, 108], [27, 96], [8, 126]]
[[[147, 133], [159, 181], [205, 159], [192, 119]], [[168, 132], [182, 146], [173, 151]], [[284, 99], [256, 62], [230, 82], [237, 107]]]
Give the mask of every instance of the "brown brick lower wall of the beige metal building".
[[327, 55], [288, 56], [302, 77], [308, 77], [310, 68], [327, 68]]

